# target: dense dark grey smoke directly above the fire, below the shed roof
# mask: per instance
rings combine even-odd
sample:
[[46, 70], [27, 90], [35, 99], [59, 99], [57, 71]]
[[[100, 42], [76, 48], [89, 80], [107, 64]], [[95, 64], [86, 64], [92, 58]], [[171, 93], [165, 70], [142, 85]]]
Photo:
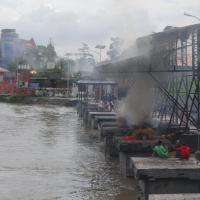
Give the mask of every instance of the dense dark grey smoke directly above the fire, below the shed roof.
[[135, 76], [134, 85], [121, 103], [119, 115], [131, 125], [151, 123], [155, 82], [148, 74]]

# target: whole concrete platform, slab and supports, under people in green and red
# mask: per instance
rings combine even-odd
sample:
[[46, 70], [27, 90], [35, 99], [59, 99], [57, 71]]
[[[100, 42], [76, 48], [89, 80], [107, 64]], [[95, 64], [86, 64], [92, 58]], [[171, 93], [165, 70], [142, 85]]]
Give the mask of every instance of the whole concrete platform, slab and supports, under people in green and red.
[[140, 200], [149, 200], [155, 194], [200, 193], [200, 164], [195, 158], [132, 157], [131, 161]]

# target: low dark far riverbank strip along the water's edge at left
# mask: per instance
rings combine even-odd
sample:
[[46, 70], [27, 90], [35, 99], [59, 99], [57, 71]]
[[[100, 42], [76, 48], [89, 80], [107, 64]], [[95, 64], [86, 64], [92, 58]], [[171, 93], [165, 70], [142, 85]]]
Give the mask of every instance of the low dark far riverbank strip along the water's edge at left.
[[0, 102], [27, 105], [58, 105], [58, 106], [75, 106], [75, 98], [65, 97], [27, 97], [27, 96], [7, 96], [1, 95]]

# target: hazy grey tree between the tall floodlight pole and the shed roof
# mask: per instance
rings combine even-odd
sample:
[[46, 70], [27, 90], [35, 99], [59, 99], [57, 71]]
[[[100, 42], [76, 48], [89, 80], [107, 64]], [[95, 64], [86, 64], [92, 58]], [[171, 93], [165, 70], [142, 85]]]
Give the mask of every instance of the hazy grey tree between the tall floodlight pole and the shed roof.
[[107, 55], [110, 57], [110, 60], [115, 60], [119, 58], [122, 53], [123, 39], [120, 37], [111, 37], [110, 40], [111, 44]]

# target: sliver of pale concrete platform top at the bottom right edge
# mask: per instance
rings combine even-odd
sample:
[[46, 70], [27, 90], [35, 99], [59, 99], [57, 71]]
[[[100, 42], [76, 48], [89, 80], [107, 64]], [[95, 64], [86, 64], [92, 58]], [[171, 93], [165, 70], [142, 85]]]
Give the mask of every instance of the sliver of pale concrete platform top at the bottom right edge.
[[200, 194], [152, 194], [149, 200], [199, 200]]

